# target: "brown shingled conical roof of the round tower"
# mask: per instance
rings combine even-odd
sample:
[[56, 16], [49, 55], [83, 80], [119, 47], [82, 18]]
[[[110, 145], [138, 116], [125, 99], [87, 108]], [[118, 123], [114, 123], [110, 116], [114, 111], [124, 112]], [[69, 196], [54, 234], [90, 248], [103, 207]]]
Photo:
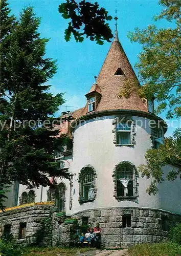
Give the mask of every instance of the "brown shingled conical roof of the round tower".
[[[147, 104], [136, 92], [128, 99], [118, 97], [126, 79], [137, 79], [137, 76], [121, 46], [116, 28], [115, 39], [110, 46], [96, 81], [102, 97], [95, 112], [103, 110], [138, 110], [148, 112]], [[90, 89], [90, 91], [92, 90], [93, 88]]]

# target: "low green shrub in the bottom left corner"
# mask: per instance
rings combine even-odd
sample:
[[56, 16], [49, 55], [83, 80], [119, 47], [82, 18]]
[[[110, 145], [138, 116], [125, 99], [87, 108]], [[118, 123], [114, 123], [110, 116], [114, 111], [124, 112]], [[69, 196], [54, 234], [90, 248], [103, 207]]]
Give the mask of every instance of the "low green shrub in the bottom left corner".
[[0, 255], [2, 256], [19, 256], [22, 255], [22, 248], [15, 244], [12, 239], [0, 239]]

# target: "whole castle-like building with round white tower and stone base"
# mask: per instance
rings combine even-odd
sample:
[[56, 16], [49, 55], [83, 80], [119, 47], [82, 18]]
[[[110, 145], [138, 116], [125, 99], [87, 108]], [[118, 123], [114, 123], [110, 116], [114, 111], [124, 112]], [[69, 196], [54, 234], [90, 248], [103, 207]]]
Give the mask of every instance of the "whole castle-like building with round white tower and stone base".
[[[146, 193], [151, 180], [141, 177], [138, 166], [146, 163], [149, 148], [163, 143], [167, 127], [154, 115], [152, 100], [136, 92], [118, 97], [126, 80], [138, 81], [116, 31], [85, 107], [62, 114], [60, 134], [70, 135], [73, 148], [65, 146], [56, 161], [69, 169], [71, 179], [30, 191], [16, 184], [19, 206], [0, 214], [2, 233], [32, 243], [41, 220], [51, 216], [53, 245], [69, 244], [74, 224], [99, 222], [103, 246], [126, 247], [159, 242], [181, 220], [179, 179], [159, 185], [155, 196]], [[70, 116], [74, 119], [67, 121]]]

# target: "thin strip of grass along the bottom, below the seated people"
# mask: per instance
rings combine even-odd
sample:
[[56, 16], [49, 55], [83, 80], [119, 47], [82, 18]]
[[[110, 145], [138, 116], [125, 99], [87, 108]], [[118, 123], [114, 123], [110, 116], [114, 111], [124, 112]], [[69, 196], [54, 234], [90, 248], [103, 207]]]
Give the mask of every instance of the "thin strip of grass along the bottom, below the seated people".
[[61, 256], [74, 256], [77, 251], [85, 252], [95, 250], [94, 248], [62, 248], [62, 247], [26, 247], [25, 252], [23, 253], [24, 256], [55, 256], [60, 254]]

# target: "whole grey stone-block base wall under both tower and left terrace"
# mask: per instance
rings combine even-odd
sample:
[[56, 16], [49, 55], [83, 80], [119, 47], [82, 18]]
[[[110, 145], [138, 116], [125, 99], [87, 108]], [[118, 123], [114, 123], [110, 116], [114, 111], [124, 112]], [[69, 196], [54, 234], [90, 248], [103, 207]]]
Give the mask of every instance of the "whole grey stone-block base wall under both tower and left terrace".
[[[70, 216], [60, 216], [53, 211], [52, 205], [34, 205], [20, 209], [0, 213], [0, 236], [4, 226], [11, 225], [11, 233], [17, 239], [17, 243], [33, 243], [37, 231], [41, 228], [42, 218], [52, 216], [52, 245], [69, 246], [71, 230], [75, 224], [65, 224], [64, 221]], [[51, 213], [52, 212], [52, 213]], [[123, 227], [123, 216], [131, 219], [130, 227]], [[148, 208], [98, 208], [80, 211], [71, 216], [78, 219], [78, 225], [82, 225], [82, 218], [88, 218], [89, 227], [94, 227], [97, 222], [101, 227], [102, 247], [127, 247], [138, 243], [156, 243], [164, 240], [169, 227], [181, 222], [181, 215], [176, 215], [164, 210]], [[19, 239], [19, 224], [27, 223], [25, 239]], [[84, 224], [85, 225], [85, 224]], [[43, 239], [46, 244], [46, 238]]]

